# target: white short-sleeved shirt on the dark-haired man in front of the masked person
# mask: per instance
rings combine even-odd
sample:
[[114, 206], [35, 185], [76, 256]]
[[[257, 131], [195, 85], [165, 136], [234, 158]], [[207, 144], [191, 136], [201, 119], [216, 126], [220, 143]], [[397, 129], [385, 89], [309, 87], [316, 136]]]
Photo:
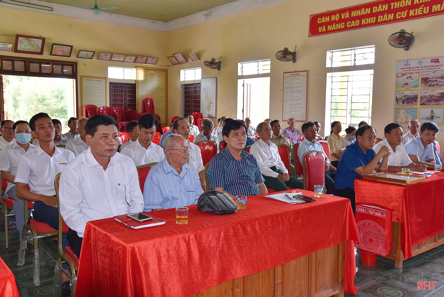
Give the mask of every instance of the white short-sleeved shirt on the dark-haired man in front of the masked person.
[[58, 147], [54, 147], [54, 154], [50, 157], [38, 146], [20, 158], [14, 181], [28, 184], [32, 193], [54, 196], [56, 175], [74, 158], [74, 153]]

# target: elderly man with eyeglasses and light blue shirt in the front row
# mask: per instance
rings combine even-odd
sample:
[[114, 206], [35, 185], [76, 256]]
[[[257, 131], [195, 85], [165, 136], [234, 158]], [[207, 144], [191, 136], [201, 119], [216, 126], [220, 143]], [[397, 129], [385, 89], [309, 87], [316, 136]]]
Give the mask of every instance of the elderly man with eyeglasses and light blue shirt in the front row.
[[187, 165], [191, 150], [189, 141], [180, 135], [165, 138], [165, 159], [151, 168], [143, 187], [145, 211], [197, 204], [203, 190], [194, 169]]

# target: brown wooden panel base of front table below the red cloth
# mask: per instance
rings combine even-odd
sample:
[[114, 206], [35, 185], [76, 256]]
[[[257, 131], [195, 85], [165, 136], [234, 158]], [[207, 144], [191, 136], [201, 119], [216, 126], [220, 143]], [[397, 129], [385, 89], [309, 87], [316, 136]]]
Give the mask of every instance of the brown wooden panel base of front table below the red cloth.
[[193, 297], [344, 296], [345, 243], [283, 265], [226, 281]]

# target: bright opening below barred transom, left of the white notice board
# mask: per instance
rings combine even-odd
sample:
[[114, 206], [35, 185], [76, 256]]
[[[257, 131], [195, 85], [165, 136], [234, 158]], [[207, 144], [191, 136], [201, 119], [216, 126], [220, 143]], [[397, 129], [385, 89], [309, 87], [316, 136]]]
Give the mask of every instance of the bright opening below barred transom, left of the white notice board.
[[270, 77], [238, 80], [238, 119], [256, 125], [270, 116]]

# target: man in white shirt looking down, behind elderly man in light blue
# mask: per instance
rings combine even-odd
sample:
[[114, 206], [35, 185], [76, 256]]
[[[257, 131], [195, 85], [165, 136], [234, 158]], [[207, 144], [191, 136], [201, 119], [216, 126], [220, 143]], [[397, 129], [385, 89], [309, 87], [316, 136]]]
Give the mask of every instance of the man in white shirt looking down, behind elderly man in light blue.
[[162, 161], [165, 158], [162, 147], [151, 141], [156, 135], [158, 124], [159, 120], [152, 113], [141, 116], [139, 138], [121, 149], [120, 153], [133, 159], [136, 166]]

